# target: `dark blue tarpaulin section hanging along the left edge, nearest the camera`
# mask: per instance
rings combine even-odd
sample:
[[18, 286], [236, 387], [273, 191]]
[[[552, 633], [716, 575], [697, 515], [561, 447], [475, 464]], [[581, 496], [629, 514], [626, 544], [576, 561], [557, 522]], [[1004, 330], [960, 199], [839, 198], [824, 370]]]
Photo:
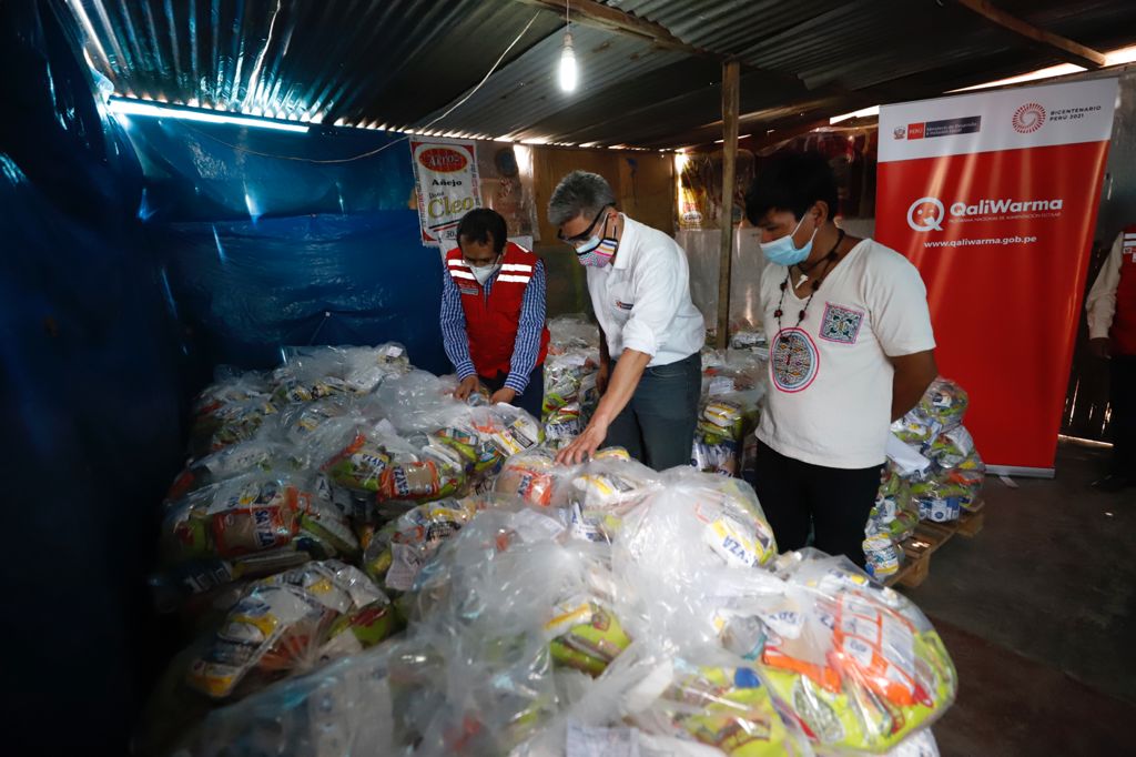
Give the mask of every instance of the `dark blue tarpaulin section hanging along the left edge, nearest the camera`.
[[178, 331], [62, 3], [0, 2], [3, 751], [125, 754], [159, 634]]

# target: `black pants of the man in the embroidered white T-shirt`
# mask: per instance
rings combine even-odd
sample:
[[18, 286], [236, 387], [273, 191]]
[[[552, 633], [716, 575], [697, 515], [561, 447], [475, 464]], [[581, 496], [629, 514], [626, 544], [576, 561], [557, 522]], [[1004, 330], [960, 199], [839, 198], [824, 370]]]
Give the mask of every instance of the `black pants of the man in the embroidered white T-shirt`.
[[758, 442], [753, 484], [780, 551], [801, 549], [813, 530], [817, 549], [863, 567], [863, 527], [876, 502], [883, 466], [826, 468]]

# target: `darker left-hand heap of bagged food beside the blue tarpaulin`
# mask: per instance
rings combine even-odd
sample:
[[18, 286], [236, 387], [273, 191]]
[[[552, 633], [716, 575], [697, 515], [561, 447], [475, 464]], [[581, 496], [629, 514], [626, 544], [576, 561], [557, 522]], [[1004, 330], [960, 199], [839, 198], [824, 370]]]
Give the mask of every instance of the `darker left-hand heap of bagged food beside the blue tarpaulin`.
[[151, 580], [187, 639], [158, 719], [390, 638], [403, 625], [392, 599], [476, 511], [460, 498], [541, 442], [535, 418], [456, 400], [452, 377], [414, 369], [399, 344], [284, 357], [195, 402]]

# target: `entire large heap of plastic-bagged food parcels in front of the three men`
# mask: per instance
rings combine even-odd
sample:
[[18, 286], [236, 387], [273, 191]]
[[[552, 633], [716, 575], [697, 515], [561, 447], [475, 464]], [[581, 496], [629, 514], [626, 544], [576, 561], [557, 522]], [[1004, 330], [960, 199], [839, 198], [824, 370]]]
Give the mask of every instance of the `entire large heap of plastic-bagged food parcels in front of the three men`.
[[560, 466], [535, 418], [452, 388], [407, 365], [309, 392], [206, 456], [240, 465], [187, 467], [162, 577], [212, 706], [176, 754], [935, 754], [955, 673], [909, 600], [778, 555], [737, 479]]

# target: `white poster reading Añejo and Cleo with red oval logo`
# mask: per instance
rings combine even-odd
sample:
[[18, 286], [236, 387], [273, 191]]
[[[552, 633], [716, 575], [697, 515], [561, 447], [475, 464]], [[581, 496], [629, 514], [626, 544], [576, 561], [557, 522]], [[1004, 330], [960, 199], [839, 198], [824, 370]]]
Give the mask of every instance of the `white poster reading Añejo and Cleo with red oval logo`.
[[477, 148], [457, 140], [411, 141], [423, 244], [457, 240], [461, 217], [482, 207]]

